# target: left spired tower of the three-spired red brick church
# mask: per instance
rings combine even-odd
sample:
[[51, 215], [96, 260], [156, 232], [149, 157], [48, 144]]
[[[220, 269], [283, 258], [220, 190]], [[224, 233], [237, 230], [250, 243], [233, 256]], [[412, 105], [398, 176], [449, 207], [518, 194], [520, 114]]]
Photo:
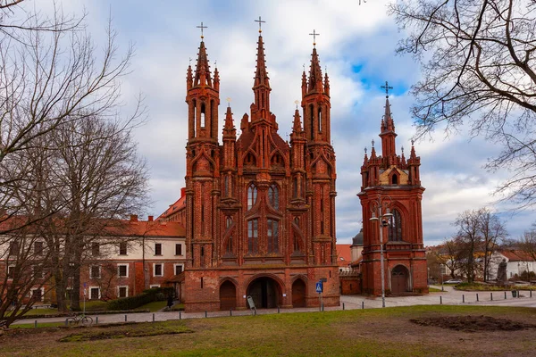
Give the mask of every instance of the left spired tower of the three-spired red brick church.
[[[201, 24], [204, 29], [203, 24]], [[220, 178], [218, 145], [218, 105], [220, 79], [218, 70], [211, 78], [205, 42], [197, 54], [196, 71], [188, 65], [188, 143], [186, 145], [186, 269], [212, 265], [215, 236], [214, 190]], [[188, 280], [188, 275], [187, 275]]]

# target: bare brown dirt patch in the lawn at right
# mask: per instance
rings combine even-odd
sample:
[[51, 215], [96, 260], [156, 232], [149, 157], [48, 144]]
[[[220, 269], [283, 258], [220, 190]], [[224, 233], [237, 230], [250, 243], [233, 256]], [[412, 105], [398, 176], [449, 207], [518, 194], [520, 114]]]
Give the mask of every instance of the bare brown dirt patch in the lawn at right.
[[463, 332], [519, 331], [526, 328], [536, 328], [536, 325], [533, 324], [508, 319], [496, 319], [484, 315], [438, 316], [433, 318], [411, 319], [410, 321], [421, 326], [448, 328]]

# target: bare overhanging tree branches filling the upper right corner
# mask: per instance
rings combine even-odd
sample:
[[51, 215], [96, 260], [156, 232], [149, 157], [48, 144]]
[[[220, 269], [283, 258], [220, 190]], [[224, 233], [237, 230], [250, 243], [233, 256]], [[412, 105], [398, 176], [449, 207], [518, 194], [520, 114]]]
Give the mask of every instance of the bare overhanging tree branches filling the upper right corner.
[[536, 204], [536, 1], [398, 0], [389, 12], [409, 31], [398, 53], [421, 63], [417, 136], [468, 123], [504, 147], [486, 166], [512, 172], [496, 193]]

